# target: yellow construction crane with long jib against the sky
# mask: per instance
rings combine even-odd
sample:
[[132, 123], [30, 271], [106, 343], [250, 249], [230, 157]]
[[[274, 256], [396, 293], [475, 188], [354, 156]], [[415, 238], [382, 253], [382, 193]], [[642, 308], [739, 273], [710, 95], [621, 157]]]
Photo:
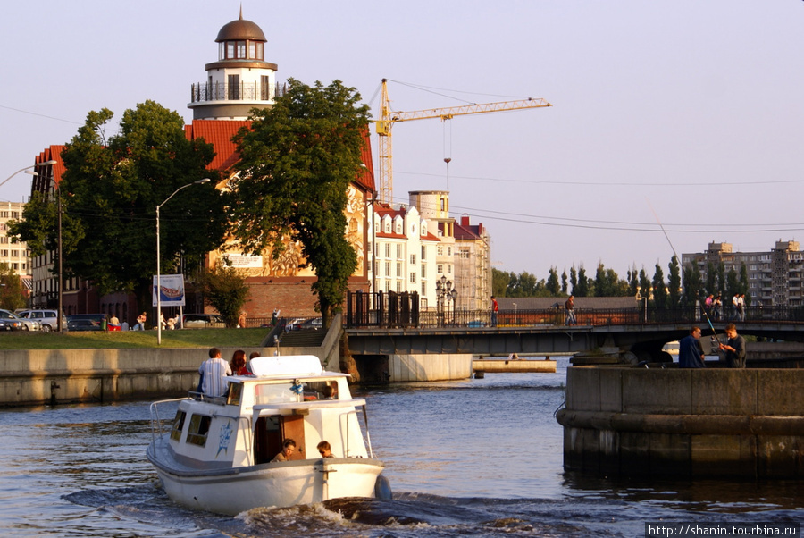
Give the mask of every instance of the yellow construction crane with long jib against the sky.
[[430, 108], [427, 110], [417, 110], [415, 112], [395, 112], [390, 109], [388, 99], [388, 80], [382, 79], [382, 93], [380, 97], [380, 119], [376, 122], [377, 134], [380, 135], [380, 189], [379, 198], [381, 202], [391, 203], [393, 196], [393, 166], [391, 164], [391, 127], [396, 122], [409, 122], [412, 120], [426, 120], [428, 118], [440, 118], [441, 120], [451, 120], [453, 116], [503, 112], [507, 110], [521, 110], [523, 108], [541, 108], [552, 106], [544, 99], [521, 99], [518, 101], [501, 101], [499, 103], [486, 103], [484, 105], [462, 105], [448, 108]]

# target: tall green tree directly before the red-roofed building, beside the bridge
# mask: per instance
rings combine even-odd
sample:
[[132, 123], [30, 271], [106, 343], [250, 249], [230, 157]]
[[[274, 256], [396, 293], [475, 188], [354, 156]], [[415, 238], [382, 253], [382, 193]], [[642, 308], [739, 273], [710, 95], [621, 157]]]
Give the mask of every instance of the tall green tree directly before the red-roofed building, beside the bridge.
[[234, 232], [247, 253], [299, 241], [312, 266], [324, 324], [343, 303], [357, 255], [344, 231], [347, 191], [361, 170], [369, 108], [339, 80], [324, 87], [289, 80], [272, 108], [253, 109], [235, 141], [240, 178], [232, 189]]

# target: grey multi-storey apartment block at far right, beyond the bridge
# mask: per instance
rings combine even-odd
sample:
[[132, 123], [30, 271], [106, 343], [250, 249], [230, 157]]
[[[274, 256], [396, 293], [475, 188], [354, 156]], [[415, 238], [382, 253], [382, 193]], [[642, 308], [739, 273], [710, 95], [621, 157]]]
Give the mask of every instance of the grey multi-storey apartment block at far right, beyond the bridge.
[[723, 263], [724, 273], [740, 273], [745, 264], [751, 304], [754, 306], [800, 307], [804, 305], [804, 252], [798, 241], [776, 241], [767, 252], [733, 252], [730, 243], [709, 243], [706, 252], [683, 254], [682, 264], [698, 265], [707, 281], [708, 267]]

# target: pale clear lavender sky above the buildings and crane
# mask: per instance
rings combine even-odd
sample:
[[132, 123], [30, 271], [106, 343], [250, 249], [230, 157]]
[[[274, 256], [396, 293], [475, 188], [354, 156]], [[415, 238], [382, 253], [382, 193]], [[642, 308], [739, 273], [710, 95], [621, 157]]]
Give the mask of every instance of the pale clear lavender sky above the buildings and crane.
[[[6, 3], [0, 181], [69, 141], [91, 110], [119, 118], [153, 99], [190, 122], [190, 85], [205, 80], [214, 38], [239, 6]], [[673, 248], [804, 240], [800, 0], [242, 6], [264, 30], [278, 80], [342, 80], [373, 110], [383, 78], [399, 111], [521, 97], [553, 105], [394, 127], [395, 201], [449, 181], [453, 216], [489, 228], [498, 269], [546, 278], [551, 265], [583, 265], [593, 275], [602, 262], [624, 278], [632, 264], [667, 273]], [[0, 199], [27, 198], [29, 180], [15, 176]]]

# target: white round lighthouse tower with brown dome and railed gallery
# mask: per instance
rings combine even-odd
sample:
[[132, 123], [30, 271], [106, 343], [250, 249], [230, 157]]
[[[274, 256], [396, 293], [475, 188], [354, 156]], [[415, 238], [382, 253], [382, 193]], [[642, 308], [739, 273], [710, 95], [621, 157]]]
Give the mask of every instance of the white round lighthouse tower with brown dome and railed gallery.
[[240, 17], [218, 32], [218, 61], [207, 63], [206, 82], [192, 85], [194, 120], [246, 120], [252, 108], [273, 105], [276, 63], [265, 62], [265, 34]]

